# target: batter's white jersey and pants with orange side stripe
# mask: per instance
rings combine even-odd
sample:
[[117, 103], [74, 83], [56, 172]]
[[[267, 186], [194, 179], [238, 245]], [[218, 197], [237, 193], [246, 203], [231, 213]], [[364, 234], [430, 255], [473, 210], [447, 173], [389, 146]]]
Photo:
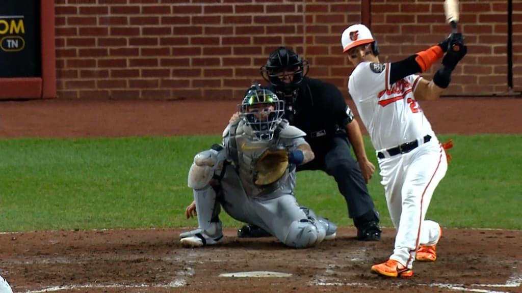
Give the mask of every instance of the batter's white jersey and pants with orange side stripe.
[[[390, 64], [363, 62], [353, 70], [348, 91], [378, 154], [386, 202], [397, 229], [390, 259], [412, 267], [419, 245], [435, 245], [440, 226], [425, 221], [433, 191], [446, 174], [445, 151], [413, 93], [421, 79], [410, 75], [389, 84]], [[424, 138], [430, 136], [428, 142]], [[418, 142], [407, 153], [387, 150]], [[379, 154], [380, 153], [380, 154]]]

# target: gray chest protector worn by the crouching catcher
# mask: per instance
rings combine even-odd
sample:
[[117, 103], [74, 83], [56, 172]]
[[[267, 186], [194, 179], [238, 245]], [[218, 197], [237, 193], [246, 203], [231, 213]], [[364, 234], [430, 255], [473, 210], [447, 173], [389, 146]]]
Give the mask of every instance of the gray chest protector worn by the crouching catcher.
[[[280, 120], [274, 137], [271, 140], [257, 140], [254, 138], [252, 128], [244, 120], [233, 123], [229, 128], [229, 153], [233, 164], [238, 171], [241, 184], [249, 197], [266, 196], [279, 189], [289, 177], [289, 169], [277, 181], [269, 185], [259, 186], [254, 184], [255, 167], [254, 162], [269, 148], [281, 145], [280, 133], [288, 126], [287, 120]], [[291, 145], [282, 145], [289, 148]]]

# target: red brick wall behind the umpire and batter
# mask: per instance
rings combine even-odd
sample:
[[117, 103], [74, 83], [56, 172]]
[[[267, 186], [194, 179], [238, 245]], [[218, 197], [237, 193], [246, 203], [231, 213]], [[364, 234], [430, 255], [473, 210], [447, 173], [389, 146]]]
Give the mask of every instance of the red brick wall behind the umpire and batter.
[[[382, 61], [411, 55], [449, 32], [441, 1], [371, 3]], [[470, 47], [448, 94], [503, 93], [505, 1], [461, 5]], [[520, 36], [522, 7], [514, 6]], [[261, 81], [259, 67], [280, 44], [310, 61], [310, 76], [346, 92], [352, 68], [341, 55], [340, 34], [361, 21], [361, 2], [354, 0], [55, 0], [55, 11], [57, 91], [72, 99], [240, 99], [251, 81]], [[522, 41], [514, 40], [514, 52], [522, 52]], [[519, 89], [521, 56], [514, 56]]]

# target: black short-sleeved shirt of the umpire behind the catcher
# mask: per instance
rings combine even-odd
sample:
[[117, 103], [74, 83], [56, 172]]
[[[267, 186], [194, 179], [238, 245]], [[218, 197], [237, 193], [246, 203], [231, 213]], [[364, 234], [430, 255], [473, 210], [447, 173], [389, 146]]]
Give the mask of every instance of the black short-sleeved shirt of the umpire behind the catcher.
[[293, 104], [285, 101], [285, 118], [306, 132], [314, 153], [324, 154], [333, 147], [334, 136], [346, 137], [350, 108], [334, 84], [319, 79], [305, 77], [298, 91]]

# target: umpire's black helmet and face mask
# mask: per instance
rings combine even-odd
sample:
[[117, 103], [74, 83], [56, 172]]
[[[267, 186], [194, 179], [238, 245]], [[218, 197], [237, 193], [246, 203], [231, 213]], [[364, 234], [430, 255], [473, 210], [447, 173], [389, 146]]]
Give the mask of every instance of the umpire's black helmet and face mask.
[[[270, 53], [265, 66], [259, 68], [261, 76], [270, 82], [276, 92], [284, 95], [295, 93], [303, 77], [308, 74], [309, 63], [298, 54], [285, 47], [279, 47]], [[293, 72], [291, 82], [284, 82], [284, 71]]]

